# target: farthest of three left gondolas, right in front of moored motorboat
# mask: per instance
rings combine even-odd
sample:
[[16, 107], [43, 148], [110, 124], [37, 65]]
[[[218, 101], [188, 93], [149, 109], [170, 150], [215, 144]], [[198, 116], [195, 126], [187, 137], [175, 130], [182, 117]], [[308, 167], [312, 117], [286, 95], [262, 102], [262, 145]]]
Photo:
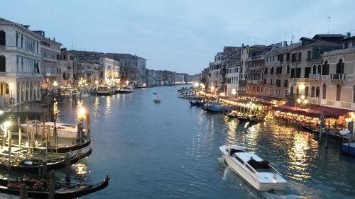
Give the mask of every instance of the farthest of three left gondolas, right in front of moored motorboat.
[[[57, 153], [66, 153], [66, 152], [73, 152], [77, 149], [83, 149], [84, 147], [87, 147], [89, 146], [89, 144], [91, 143], [91, 139], [87, 139], [87, 140], [84, 140], [84, 142], [82, 142], [81, 144], [80, 143], [77, 143], [75, 144], [74, 142], [72, 144], [59, 144], [58, 145], [58, 149], [56, 149], [55, 147], [48, 147], [47, 148], [47, 151], [48, 152], [57, 152]], [[11, 146], [13, 147], [19, 147], [18, 144], [11, 144]], [[28, 149], [28, 148], [31, 148], [28, 147], [28, 145], [25, 145], [25, 144], [22, 144], [21, 146], [23, 149]], [[36, 147], [33, 147], [33, 150], [34, 151], [45, 151], [45, 147], [43, 146], [36, 146]]]

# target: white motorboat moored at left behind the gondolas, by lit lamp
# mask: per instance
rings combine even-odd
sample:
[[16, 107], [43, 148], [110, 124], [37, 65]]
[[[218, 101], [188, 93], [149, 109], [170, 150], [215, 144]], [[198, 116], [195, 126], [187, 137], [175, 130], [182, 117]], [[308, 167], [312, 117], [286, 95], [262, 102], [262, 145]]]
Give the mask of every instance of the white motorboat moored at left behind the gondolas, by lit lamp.
[[[36, 127], [37, 125], [37, 127]], [[54, 123], [53, 122], [45, 122], [45, 131], [50, 130], [50, 136], [53, 136], [54, 132]], [[65, 124], [65, 123], [55, 123], [55, 127], [57, 127], [57, 135], [58, 137], [66, 137], [66, 138], [77, 138], [77, 125]], [[43, 123], [38, 120], [30, 120], [27, 123], [21, 124], [21, 130], [26, 133], [35, 133], [37, 135], [41, 135], [43, 132]], [[84, 135], [87, 136], [87, 130], [83, 130]]]

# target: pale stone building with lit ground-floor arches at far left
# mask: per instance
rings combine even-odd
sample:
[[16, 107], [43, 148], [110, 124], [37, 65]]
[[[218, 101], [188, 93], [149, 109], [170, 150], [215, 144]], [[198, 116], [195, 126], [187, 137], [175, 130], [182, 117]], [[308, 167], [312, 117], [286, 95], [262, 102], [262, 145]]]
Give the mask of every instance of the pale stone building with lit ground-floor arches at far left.
[[0, 103], [40, 99], [41, 37], [20, 25], [0, 18]]

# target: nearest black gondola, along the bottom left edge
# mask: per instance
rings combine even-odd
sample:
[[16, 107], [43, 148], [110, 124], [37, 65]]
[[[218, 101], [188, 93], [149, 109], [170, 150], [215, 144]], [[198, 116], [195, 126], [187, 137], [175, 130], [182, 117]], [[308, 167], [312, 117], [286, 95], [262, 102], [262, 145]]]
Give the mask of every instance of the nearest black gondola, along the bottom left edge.
[[[104, 181], [97, 184], [82, 184], [65, 182], [55, 183], [54, 198], [78, 198], [89, 193], [100, 191], [109, 186], [110, 178], [106, 176]], [[0, 179], [0, 192], [11, 195], [20, 195], [20, 188], [22, 183], [26, 184], [28, 198], [49, 198], [50, 192], [48, 188], [48, 181], [42, 180], [28, 180], [21, 179], [16, 181], [9, 181], [8, 179]]]

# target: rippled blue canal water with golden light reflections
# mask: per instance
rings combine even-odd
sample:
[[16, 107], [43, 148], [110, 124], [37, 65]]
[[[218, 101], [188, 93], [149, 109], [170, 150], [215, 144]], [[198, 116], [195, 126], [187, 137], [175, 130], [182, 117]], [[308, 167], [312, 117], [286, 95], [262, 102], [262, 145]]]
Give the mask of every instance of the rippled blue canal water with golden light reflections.
[[[339, 143], [268, 120], [252, 127], [208, 114], [178, 98], [181, 86], [135, 89], [83, 100], [91, 118], [92, 155], [75, 178], [108, 188], [83, 198], [355, 198], [355, 159]], [[153, 103], [152, 91], [161, 103]], [[77, 106], [58, 104], [73, 123]], [[324, 140], [324, 139], [323, 139]], [[259, 192], [228, 169], [219, 146], [241, 144], [267, 159], [288, 180], [285, 191]]]

